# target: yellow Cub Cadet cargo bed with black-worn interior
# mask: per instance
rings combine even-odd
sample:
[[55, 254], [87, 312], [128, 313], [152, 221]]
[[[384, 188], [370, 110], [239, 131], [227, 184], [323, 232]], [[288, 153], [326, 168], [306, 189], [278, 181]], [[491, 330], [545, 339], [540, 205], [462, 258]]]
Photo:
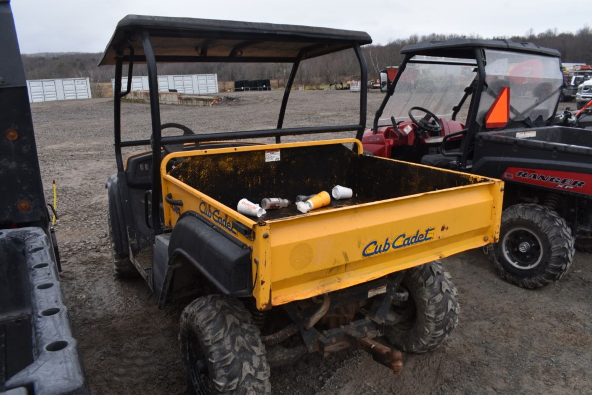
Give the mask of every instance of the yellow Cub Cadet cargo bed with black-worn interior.
[[[163, 201], [183, 204], [165, 203], [165, 226], [194, 211], [252, 248], [259, 309], [497, 241], [502, 181], [361, 155], [352, 144], [362, 152], [343, 139], [172, 153], [162, 162]], [[175, 158], [184, 161], [170, 169]], [[294, 201], [335, 185], [353, 198], [307, 214], [294, 205], [259, 219], [236, 211], [241, 198]]]

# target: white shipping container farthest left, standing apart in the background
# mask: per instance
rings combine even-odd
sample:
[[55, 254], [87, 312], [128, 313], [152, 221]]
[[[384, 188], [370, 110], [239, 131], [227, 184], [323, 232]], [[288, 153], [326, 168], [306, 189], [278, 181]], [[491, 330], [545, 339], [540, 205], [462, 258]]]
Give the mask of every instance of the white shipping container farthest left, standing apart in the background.
[[88, 78], [30, 79], [27, 91], [31, 103], [90, 99], [91, 82]]

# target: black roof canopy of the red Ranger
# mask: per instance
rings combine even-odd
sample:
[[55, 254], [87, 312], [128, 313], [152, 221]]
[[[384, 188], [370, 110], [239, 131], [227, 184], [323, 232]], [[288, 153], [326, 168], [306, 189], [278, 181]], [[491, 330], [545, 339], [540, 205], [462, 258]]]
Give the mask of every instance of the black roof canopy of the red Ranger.
[[532, 53], [544, 56], [561, 56], [556, 49], [539, 47], [532, 43], [515, 43], [512, 40], [482, 40], [479, 38], [451, 38], [443, 41], [424, 41], [410, 44], [401, 50], [402, 54], [475, 58], [475, 48], [490, 48], [511, 52]]

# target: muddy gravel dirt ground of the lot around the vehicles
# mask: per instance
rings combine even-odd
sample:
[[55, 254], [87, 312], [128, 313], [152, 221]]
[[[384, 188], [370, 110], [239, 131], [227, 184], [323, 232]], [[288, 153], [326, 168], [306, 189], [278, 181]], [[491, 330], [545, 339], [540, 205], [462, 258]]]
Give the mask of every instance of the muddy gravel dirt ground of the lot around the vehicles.
[[[197, 133], [275, 126], [281, 92], [237, 96], [212, 107], [163, 105], [162, 122], [186, 124]], [[382, 95], [368, 96], [370, 121]], [[295, 91], [285, 126], [355, 123], [358, 103], [359, 95], [350, 92]], [[115, 171], [111, 99], [32, 107], [49, 201], [52, 179], [57, 182], [62, 285], [92, 393], [185, 393], [177, 343], [184, 306], [158, 310], [140, 278], [118, 280], [111, 268], [105, 191]], [[122, 118], [125, 139], [149, 137], [147, 104], [123, 104]], [[590, 255], [576, 253], [561, 281], [534, 291], [498, 278], [481, 250], [444, 264], [461, 305], [448, 343], [429, 354], [404, 355], [398, 377], [363, 352], [308, 355], [272, 370], [274, 393], [592, 393]]]

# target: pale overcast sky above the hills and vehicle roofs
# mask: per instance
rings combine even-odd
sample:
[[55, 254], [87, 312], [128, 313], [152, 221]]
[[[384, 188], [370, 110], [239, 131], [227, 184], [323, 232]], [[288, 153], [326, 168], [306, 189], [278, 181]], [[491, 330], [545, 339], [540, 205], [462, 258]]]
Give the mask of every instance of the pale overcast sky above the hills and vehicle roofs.
[[411, 34], [576, 31], [592, 20], [548, 0], [12, 0], [22, 53], [102, 52], [127, 14], [285, 23], [363, 30], [386, 44]]

